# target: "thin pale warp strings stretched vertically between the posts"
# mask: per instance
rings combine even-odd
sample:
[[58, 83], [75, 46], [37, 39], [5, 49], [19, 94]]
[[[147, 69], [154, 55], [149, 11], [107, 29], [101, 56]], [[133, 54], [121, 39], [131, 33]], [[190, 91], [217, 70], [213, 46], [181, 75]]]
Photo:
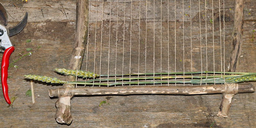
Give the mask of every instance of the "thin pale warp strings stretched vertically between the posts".
[[[117, 43], [118, 43], [118, 4], [119, 4], [119, 1], [117, 1], [118, 3], [117, 3], [117, 18], [116, 18], [116, 22], [117, 22], [117, 25], [116, 25], [116, 44], [115, 44], [115, 49], [116, 49], [116, 56], [115, 56], [115, 74], [116, 74], [116, 72], [117, 72]], [[138, 2], [140, 2], [139, 3], [139, 10], [138, 10], [138, 12], [139, 12], [139, 40], [138, 40], [138, 42], [139, 42], [139, 44], [138, 44], [138, 46], [139, 46], [139, 52], [140, 52], [140, 36], [141, 36], [141, 0], [140, 1], [138, 1]], [[152, 33], [152, 34], [154, 34], [153, 35], [153, 40], [152, 40], [152, 43], [153, 43], [153, 77], [155, 77], [155, 73], [156, 73], [156, 70], [157, 69], [155, 69], [155, 66], [157, 66], [158, 64], [157, 64], [157, 60], [155, 60], [156, 59], [156, 57], [158, 56], [157, 54], [157, 51], [155, 51], [155, 47], [156, 46], [158, 46], [157, 45], [157, 43], [158, 42], [156, 42], [156, 40], [157, 40], [157, 32], [159, 32], [158, 30], [156, 30], [156, 28], [155, 28], [155, 23], [156, 22], [159, 22], [158, 21], [158, 17], [155, 17], [155, 16], [157, 16], [157, 13], [155, 12], [158, 8], [157, 7], [155, 7], [155, 5], [157, 5], [156, 3], [154, 3], [154, 4], [152, 4], [152, 5], [148, 5], [148, 3], [147, 3], [147, 0], [145, 1], [146, 2], [146, 4], [145, 4], [145, 6], [146, 6], [146, 12], [145, 12], [145, 14], [146, 14], [146, 17], [145, 17], [145, 48], [143, 49], [143, 55], [144, 55], [144, 57], [145, 57], [145, 73], [147, 72], [147, 70], [146, 70], [146, 66], [147, 66], [147, 34], [149, 34], [147, 31], [147, 22], [150, 22], [150, 21], [147, 21], [148, 19], [150, 19], [150, 18], [148, 18], [147, 16], [148, 16], [148, 12], [150, 12], [150, 11], [148, 11], [148, 9], [154, 9], [154, 10], [152, 10], [152, 13], [153, 13], [153, 15], [149, 15], [149, 16], [152, 16], [152, 17], [154, 17], [154, 19], [153, 19], [153, 32], [154, 33]], [[154, 0], [154, 2], [157, 2], [157, 1], [155, 1]], [[159, 1], [160, 2], [160, 1]], [[176, 60], [177, 59], [179, 59], [179, 57], [180, 57], [180, 55], [177, 55], [176, 54], [176, 52], [178, 52], [178, 50], [177, 50], [177, 48], [176, 48], [176, 41], [179, 41], [179, 39], [176, 37], [176, 35], [177, 35], [177, 32], [179, 32], [179, 30], [176, 28], [176, 20], [179, 18], [179, 17], [177, 17], [176, 16], [176, 0], [174, 1], [175, 3], [174, 3], [174, 53], [175, 53], [175, 59], [174, 59], [174, 63], [175, 63], [175, 72], [176, 71], [179, 71], [179, 69], [177, 69], [177, 67], [179, 67], [179, 65], [176, 67]], [[203, 29], [202, 27], [201, 27], [201, 20], [203, 20], [203, 19], [201, 19], [202, 17], [201, 17], [201, 14], [200, 13], [202, 13], [201, 12], [201, 8], [200, 8], [200, 2], [202, 2], [202, 1], [200, 1], [200, 0], [198, 0], [198, 11], [199, 11], [199, 31], [200, 31], [200, 63], [201, 63], [201, 76], [202, 76], [202, 72], [203, 72], [203, 62], [202, 62], [202, 60], [203, 60], [203, 58], [202, 58], [202, 52], [203, 52], [203, 45], [202, 45], [202, 43], [204, 43], [204, 42], [202, 42], [202, 39], [204, 38], [203, 37], [203, 35], [201, 35], [202, 33], [201, 33], [201, 29]], [[206, 5], [206, 0], [204, 1], [205, 3], [205, 5], [204, 5], [204, 13], [205, 13], [205, 16], [203, 15], [203, 18], [205, 18], [205, 45], [206, 45], [206, 71], [208, 71], [208, 40], [207, 40], [207, 21], [209, 21], [209, 20], [207, 20], [207, 17], [209, 17], [209, 16], [207, 16], [207, 5]], [[219, 9], [218, 9], [218, 11], [219, 11], [219, 17], [221, 16], [221, 9], [220, 9], [220, 0], [218, 1], [219, 2]], [[108, 49], [108, 79], [110, 78], [110, 76], [109, 76], [109, 74], [110, 74], [110, 51], [111, 51], [111, 47], [110, 47], [110, 36], [111, 36], [111, 15], [113, 14], [112, 13], [112, 0], [109, 2], [110, 3], [110, 22], [109, 22], [109, 49]], [[129, 34], [130, 34], [130, 60], [129, 60], [129, 74], [131, 74], [131, 71], [132, 71], [132, 69], [131, 69], [131, 64], [132, 64], [132, 58], [131, 58], [131, 48], [132, 48], [132, 42], [133, 42], [133, 38], [132, 38], [132, 25], [135, 25], [134, 23], [136, 22], [135, 20], [133, 21], [133, 19], [132, 19], [132, 17], [135, 15], [135, 14], [133, 14], [132, 13], [132, 11], [134, 10], [134, 9], [136, 9], [136, 7], [134, 8], [133, 7], [133, 1], [131, 0], [129, 3], [128, 2], [126, 2], [126, 0], [124, 1], [124, 13], [122, 14], [123, 15], [123, 18], [124, 18], [124, 22], [123, 22], [123, 49], [120, 49], [121, 51], [123, 50], [123, 54], [122, 54], [122, 56], [123, 56], [123, 64], [122, 64], [122, 78], [124, 78], [124, 74], [125, 74], [125, 70], [124, 70], [124, 68], [125, 68], [125, 66], [124, 66], [124, 59], [125, 59], [125, 47], [126, 46], [128, 46], [128, 45], [125, 45], [125, 35], [126, 34], [128, 34], [128, 33], [126, 33], [125, 34], [125, 31], [126, 31], [126, 29], [127, 29], [127, 27], [126, 27], [126, 3], [127, 4], [130, 4], [131, 5], [131, 8], [130, 8], [130, 10], [128, 10], [128, 12], [130, 11], [130, 32], [129, 32]], [[135, 2], [136, 3], [136, 2]], [[223, 1], [223, 4], [224, 4], [224, 1]], [[106, 5], [108, 5], [108, 4], [106, 4]], [[114, 5], [114, 3], [113, 3], [113, 5]], [[143, 5], [143, 4], [142, 4]], [[160, 16], [160, 21], [161, 21], [161, 30], [160, 30], [160, 33], [161, 33], [161, 35], [160, 35], [160, 42], [159, 43], [161, 43], [160, 44], [160, 48], [161, 48], [161, 51], [160, 51], [160, 64], [159, 64], [159, 66], [160, 66], [160, 72], [162, 72], [162, 42], [163, 42], [163, 40], [162, 40], [162, 21], [163, 21], [163, 18], [164, 17], [162, 17], [162, 6], [163, 5], [163, 3], [162, 3], [162, 0], [161, 0], [161, 3], [160, 3], [160, 8], [161, 8], [161, 16]], [[191, 15], [191, 0], [190, 0], [190, 4], [189, 4], [190, 6], [189, 6], [189, 8], [190, 8], [190, 15], [189, 15], [189, 18], [190, 18], [190, 52], [191, 52], [191, 56], [190, 56], [190, 59], [191, 59], [191, 72], [193, 71], [193, 63], [192, 63], [192, 23], [191, 23], [191, 17], [192, 17], [192, 15]], [[215, 51], [214, 51], [214, 48], [215, 48], [215, 46], [214, 46], [214, 13], [213, 13], [213, 10], [214, 10], [214, 6], [213, 6], [214, 4], [213, 4], [213, 0], [212, 0], [212, 36], [213, 36], [213, 71], [214, 71], [214, 75], [215, 75]], [[102, 64], [102, 62], [104, 62], [104, 61], [102, 61], [101, 59], [104, 59], [104, 57], [102, 57], [102, 43], [103, 43], [103, 41], [102, 41], [102, 34], [103, 34], [103, 13], [105, 13], [105, 11], [103, 11], [104, 9], [103, 9], [103, 6], [104, 6], [104, 0], [102, 0], [102, 15], [101, 15], [101, 44], [100, 44], [100, 73], [99, 74], [101, 74], [101, 64]], [[148, 6], [151, 6], [152, 8], [148, 8]], [[182, 14], [185, 14], [185, 12], [184, 12], [184, 1], [182, 2], [182, 12], [180, 12], [180, 13], [182, 13]], [[96, 28], [95, 28], [95, 63], [96, 63], [96, 33], [97, 33], [97, 7], [98, 7], [98, 1], [97, 1], [97, 6], [95, 6], [96, 7]], [[116, 7], [116, 6], [115, 6]], [[225, 10], [225, 5], [223, 5], [223, 13], [224, 13], [224, 10]], [[196, 7], [197, 8], [197, 7]], [[114, 8], [113, 8], [113, 10], [115, 10]], [[154, 12], [153, 12], [154, 11]], [[177, 8], [177, 12], [179, 11], [179, 9]], [[135, 11], [136, 12], [136, 11]], [[143, 13], [142, 13], [143, 14]], [[224, 15], [224, 14], [223, 14]], [[135, 16], [136, 17], [136, 16]], [[143, 16], [142, 16], [143, 17]], [[184, 35], [184, 33], [185, 33], [185, 27], [184, 27], [184, 20], [185, 20], [185, 16], [184, 15], [182, 15], [182, 26], [183, 26], [183, 56], [181, 56], [181, 57], [183, 57], [183, 76], [185, 76], [185, 51], [187, 51], [187, 49], [185, 49], [185, 35]], [[224, 16], [224, 18], [225, 18], [225, 16]], [[216, 18], [215, 18], [216, 19]], [[155, 21], [156, 20], [156, 21]], [[169, 1], [168, 1], [168, 28], [169, 28]], [[113, 22], [113, 21], [112, 21]], [[224, 69], [223, 69], [223, 63], [222, 63], [222, 44], [221, 44], [221, 71], [222, 70], [224, 70], [224, 75], [225, 75], [225, 20], [223, 20], [223, 24], [224, 24], [224, 28], [223, 28], [223, 36], [224, 36], [224, 38], [223, 38], [223, 47], [224, 47]], [[179, 25], [179, 24], [177, 24], [177, 25]], [[220, 43], [222, 43], [222, 28], [221, 28], [222, 26], [221, 26], [221, 19], [219, 19], [219, 37], [220, 37]], [[89, 27], [88, 27], [89, 28]], [[180, 27], [181, 28], [181, 27]], [[176, 30], [177, 29], [177, 30]], [[163, 29], [164, 30], [164, 29]], [[151, 33], [150, 33], [151, 34]], [[88, 35], [89, 35], [89, 33], [88, 33]], [[135, 36], [134, 36], [135, 37]], [[88, 42], [88, 41], [87, 41]], [[88, 45], [88, 44], [87, 44]], [[211, 49], [210, 49], [211, 50]], [[156, 53], [155, 53], [156, 52]], [[78, 57], [78, 56], [77, 56]], [[138, 74], [140, 73], [140, 53], [139, 53], [139, 55], [138, 55]], [[87, 60], [88, 60], [88, 46], [87, 46]], [[95, 68], [96, 68], [96, 66], [95, 66], [95, 63], [94, 63], [94, 73], [95, 73]], [[121, 62], [122, 63], [122, 62]], [[78, 65], [78, 63], [77, 63], [77, 65]], [[168, 29], [168, 76], [169, 76], [169, 66], [170, 66], [170, 64], [169, 64], [169, 29]], [[87, 66], [86, 66], [86, 69], [87, 69]], [[78, 68], [77, 68], [77, 70], [78, 70]], [[223, 75], [223, 74], [221, 74], [221, 75]], [[162, 76], [162, 75], [161, 75]], [[193, 76], [193, 74], [191, 74], [191, 76]], [[208, 76], [208, 74], [206, 74], [206, 76]], [[76, 76], [77, 77], [77, 76]], [[139, 77], [139, 75], [138, 75], [138, 77]], [[93, 78], [93, 79], [95, 79], [95, 78]], [[100, 82], [101, 82], [101, 77], [99, 78], [100, 79]], [[77, 78], [76, 78], [76, 80], [77, 80]], [[175, 80], [176, 80], [176, 75], [175, 75]], [[145, 81], [146, 81], [146, 79], [145, 79]], [[155, 84], [155, 79], [153, 79], [153, 83]], [[161, 79], [161, 81], [162, 81], [162, 79]], [[169, 81], [169, 79], [168, 79], [168, 81]], [[183, 78], [183, 81], [184, 81], [184, 85], [185, 85], [185, 79]], [[215, 81], [215, 79], [214, 79], [214, 81]], [[94, 82], [94, 81], [93, 81]], [[116, 76], [115, 76], [115, 82], [116, 82]], [[129, 82], [131, 82], [131, 75], [129, 75]], [[139, 80], [138, 80], [138, 82], [139, 82]], [[202, 82], [202, 78], [201, 78], [201, 82]], [[201, 82], [200, 82], [200, 85], [201, 85]], [[122, 80], [122, 86], [124, 85], [123, 84], [124, 83], [124, 80]], [[108, 84], [109, 84], [109, 81], [108, 81]], [[139, 83], [138, 83], [138, 85], [139, 85]], [[168, 85], [169, 85], [169, 83], [168, 83]], [[176, 85], [176, 83], [175, 83], [175, 85]], [[76, 85], [77, 86], [77, 85]]]

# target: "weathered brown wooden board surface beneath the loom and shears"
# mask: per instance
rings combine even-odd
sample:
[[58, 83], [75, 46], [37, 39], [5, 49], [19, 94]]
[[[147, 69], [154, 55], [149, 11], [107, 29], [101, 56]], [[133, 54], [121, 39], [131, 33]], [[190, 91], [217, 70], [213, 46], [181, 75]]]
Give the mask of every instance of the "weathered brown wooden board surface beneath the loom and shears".
[[[116, 10], [117, 0], [112, 1], [112, 23], [111, 23], [111, 58], [110, 73], [114, 73], [115, 66], [115, 34], [116, 34]], [[117, 72], [122, 73], [122, 43], [123, 43], [123, 26], [124, 26], [124, 0], [119, 0], [118, 16], [118, 56]], [[130, 6], [131, 2], [126, 1], [126, 23], [125, 23], [125, 68], [124, 72], [129, 73], [129, 54], [130, 54]], [[0, 92], [0, 120], [1, 127], [145, 127], [145, 128], [168, 128], [168, 127], [209, 127], [214, 121], [213, 127], [255, 127], [255, 110], [256, 110], [256, 93], [237, 94], [233, 101], [226, 119], [218, 118], [217, 111], [221, 103], [221, 94], [217, 95], [194, 95], [194, 96], [168, 96], [168, 95], [131, 95], [131, 96], [95, 96], [95, 97], [74, 97], [71, 100], [71, 113], [73, 122], [70, 126], [57, 124], [55, 116], [56, 98], [49, 98], [48, 89], [57, 88], [59, 85], [45, 84], [34, 82], [35, 104], [32, 103], [31, 97], [25, 96], [30, 89], [30, 82], [25, 80], [23, 75], [38, 74], [49, 77], [64, 79], [64, 76], [56, 74], [53, 69], [67, 68], [69, 58], [74, 42], [75, 32], [75, 1], [74, 0], [28, 0], [22, 3], [20, 0], [2, 0], [1, 3], [6, 7], [9, 15], [8, 27], [16, 25], [28, 12], [29, 18], [25, 29], [11, 37], [15, 52], [12, 53], [12, 60], [28, 53], [27, 48], [32, 48], [32, 55], [25, 56], [9, 69], [8, 79], [9, 96], [17, 96], [13, 106], [7, 108], [2, 91]], [[133, 1], [132, 15], [132, 73], [138, 72], [138, 0]], [[146, 71], [153, 71], [153, 4], [148, 0], [148, 23], [147, 23], [147, 66]], [[193, 31], [193, 70], [200, 71], [200, 36], [198, 25], [198, 1], [192, 0], [192, 31]], [[208, 15], [211, 19], [211, 1], [207, 0], [209, 6]], [[225, 47], [227, 70], [229, 61], [229, 52], [231, 47], [232, 17], [233, 17], [233, 0], [225, 1]], [[14, 5], [15, 4], [15, 5]], [[101, 43], [101, 11], [102, 1], [98, 1], [97, 17], [97, 50], [96, 50], [96, 73], [99, 73], [100, 62], [100, 43]], [[174, 71], [174, 10], [173, 1], [170, 1], [170, 70]], [[183, 31], [182, 31], [182, 3], [176, 1], [176, 16], [179, 21], [176, 22], [177, 30], [177, 71], [183, 71]], [[201, 19], [204, 13], [204, 1], [201, 4]], [[96, 0], [91, 0], [91, 18], [90, 18], [90, 37], [89, 37], [89, 59], [88, 70], [94, 70], [94, 46], [95, 46], [95, 26], [96, 26]], [[156, 1], [155, 10], [155, 71], [160, 71], [160, 2]], [[162, 58], [167, 59], [167, 1], [163, 0], [163, 22], [162, 22]], [[189, 13], [189, 1], [184, 1], [184, 12]], [[16, 7], [17, 6], [17, 7]], [[223, 6], [221, 4], [221, 6]], [[241, 53], [241, 62], [239, 71], [256, 72], [256, 42], [252, 41], [253, 30], [256, 29], [256, 2], [254, 0], [244, 1], [244, 41]], [[137, 12], [136, 12], [137, 11]], [[215, 70], [220, 70], [220, 44], [219, 44], [219, 23], [218, 23], [218, 3], [214, 2], [214, 35], [215, 35]], [[110, 1], [104, 2], [103, 11], [103, 38], [102, 38], [102, 74], [108, 73], [108, 44], [109, 44], [109, 18]], [[145, 70], [145, 58], [143, 48], [145, 47], [145, 0], [141, 2], [141, 45], [140, 45], [140, 72]], [[136, 15], [137, 13], [137, 15]], [[250, 14], [249, 14], [250, 13]], [[207, 22], [208, 33], [208, 70], [213, 70], [213, 51], [212, 51], [212, 31], [210, 22]], [[189, 17], [184, 18], [185, 25], [185, 71], [190, 69], [190, 25]], [[205, 37], [205, 24], [201, 21], [201, 34]], [[223, 38], [223, 37], [222, 37]], [[26, 43], [27, 39], [31, 42]], [[37, 50], [37, 47], [41, 46]], [[202, 38], [202, 56], [203, 70], [206, 70], [205, 61], [205, 38]], [[166, 60], [162, 62], [162, 71], [167, 71]], [[86, 54], [82, 69], [86, 69]], [[101, 101], [108, 101], [110, 105], [102, 105]]]

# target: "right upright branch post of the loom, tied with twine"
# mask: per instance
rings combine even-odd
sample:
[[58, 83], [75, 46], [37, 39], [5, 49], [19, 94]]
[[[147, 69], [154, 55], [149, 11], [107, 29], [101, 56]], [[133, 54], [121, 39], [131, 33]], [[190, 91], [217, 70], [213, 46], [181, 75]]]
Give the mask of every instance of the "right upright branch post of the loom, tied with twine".
[[[234, 2], [234, 25], [232, 31], [232, 49], [230, 54], [230, 61], [229, 61], [229, 71], [235, 72], [237, 71], [240, 63], [240, 55], [241, 55], [241, 48], [243, 42], [243, 5], [244, 0], [235, 0]], [[219, 107], [219, 111], [217, 116], [221, 118], [227, 118], [231, 100], [235, 94], [223, 94], [221, 106]]]

